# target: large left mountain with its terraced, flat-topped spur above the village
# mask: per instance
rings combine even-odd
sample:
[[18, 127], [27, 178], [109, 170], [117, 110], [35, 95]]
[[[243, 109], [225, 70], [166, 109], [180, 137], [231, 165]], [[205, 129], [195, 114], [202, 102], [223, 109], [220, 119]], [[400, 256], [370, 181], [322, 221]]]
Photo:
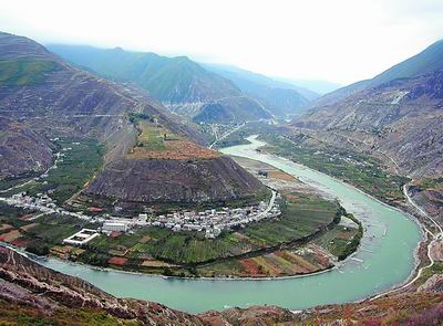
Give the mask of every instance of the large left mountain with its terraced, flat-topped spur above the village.
[[[52, 165], [51, 138], [79, 137], [105, 147], [85, 194], [195, 202], [248, 198], [264, 189], [230, 158], [204, 148], [192, 125], [145, 92], [72, 67], [30, 39], [0, 33], [0, 180], [41, 173]], [[162, 180], [167, 187], [153, 190]]]

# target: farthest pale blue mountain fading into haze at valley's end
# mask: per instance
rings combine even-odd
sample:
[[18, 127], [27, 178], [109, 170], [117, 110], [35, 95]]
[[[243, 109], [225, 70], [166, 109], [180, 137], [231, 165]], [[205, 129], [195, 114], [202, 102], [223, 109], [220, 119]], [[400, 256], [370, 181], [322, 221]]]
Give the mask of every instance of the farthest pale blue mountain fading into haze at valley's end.
[[204, 64], [204, 66], [233, 81], [241, 92], [257, 98], [276, 116], [298, 114], [306, 109], [310, 101], [319, 97], [310, 90], [275, 81], [235, 66], [219, 64]]

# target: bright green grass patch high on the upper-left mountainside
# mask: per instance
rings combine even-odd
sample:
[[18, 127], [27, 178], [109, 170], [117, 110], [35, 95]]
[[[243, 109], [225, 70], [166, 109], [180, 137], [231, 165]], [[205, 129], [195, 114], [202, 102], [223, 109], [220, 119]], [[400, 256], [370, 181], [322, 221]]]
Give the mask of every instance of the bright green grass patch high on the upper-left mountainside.
[[49, 72], [60, 66], [45, 60], [0, 60], [0, 85], [23, 86], [41, 84]]

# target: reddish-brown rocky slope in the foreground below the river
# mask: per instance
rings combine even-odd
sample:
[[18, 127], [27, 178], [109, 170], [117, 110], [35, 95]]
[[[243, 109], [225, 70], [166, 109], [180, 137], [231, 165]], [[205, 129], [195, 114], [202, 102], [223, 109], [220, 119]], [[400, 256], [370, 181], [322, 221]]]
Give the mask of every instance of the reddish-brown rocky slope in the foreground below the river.
[[190, 315], [116, 298], [80, 278], [0, 248], [0, 324], [6, 325], [441, 325], [443, 282], [357, 304], [292, 313], [275, 306]]

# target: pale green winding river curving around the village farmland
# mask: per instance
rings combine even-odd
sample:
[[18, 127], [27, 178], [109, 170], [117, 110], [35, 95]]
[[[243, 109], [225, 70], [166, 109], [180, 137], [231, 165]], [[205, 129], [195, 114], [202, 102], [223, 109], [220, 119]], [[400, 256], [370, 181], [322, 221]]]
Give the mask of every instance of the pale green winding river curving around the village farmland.
[[54, 259], [41, 263], [86, 280], [113, 295], [159, 302], [190, 313], [264, 304], [301, 309], [361, 299], [406, 281], [414, 269], [414, 250], [422, 239], [413, 220], [327, 175], [257, 153], [255, 149], [264, 143], [255, 137], [248, 139], [251, 141], [248, 145], [222, 151], [272, 165], [338, 198], [364, 225], [364, 236], [354, 255], [326, 273], [268, 281], [177, 280], [101, 271]]

